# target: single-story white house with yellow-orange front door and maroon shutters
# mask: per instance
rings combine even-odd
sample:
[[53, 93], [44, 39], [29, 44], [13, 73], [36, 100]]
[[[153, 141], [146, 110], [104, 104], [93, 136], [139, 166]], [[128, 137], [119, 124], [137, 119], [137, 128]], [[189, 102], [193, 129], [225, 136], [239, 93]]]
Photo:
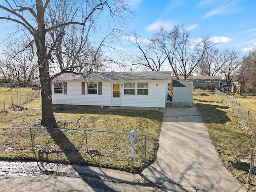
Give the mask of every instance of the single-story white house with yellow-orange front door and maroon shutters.
[[170, 72], [64, 73], [52, 81], [52, 103], [165, 108]]

